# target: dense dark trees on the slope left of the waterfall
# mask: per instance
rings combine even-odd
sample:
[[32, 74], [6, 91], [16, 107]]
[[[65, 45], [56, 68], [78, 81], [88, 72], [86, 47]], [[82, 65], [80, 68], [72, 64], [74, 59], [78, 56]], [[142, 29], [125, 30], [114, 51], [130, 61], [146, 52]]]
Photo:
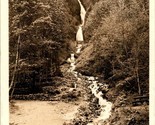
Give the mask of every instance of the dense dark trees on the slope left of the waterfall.
[[[9, 1], [10, 80], [19, 36], [19, 64], [15, 82], [37, 84], [51, 76], [61, 75], [60, 52], [68, 39], [73, 39], [75, 31], [66, 5], [63, 0]], [[36, 75], [34, 80], [33, 75]]]

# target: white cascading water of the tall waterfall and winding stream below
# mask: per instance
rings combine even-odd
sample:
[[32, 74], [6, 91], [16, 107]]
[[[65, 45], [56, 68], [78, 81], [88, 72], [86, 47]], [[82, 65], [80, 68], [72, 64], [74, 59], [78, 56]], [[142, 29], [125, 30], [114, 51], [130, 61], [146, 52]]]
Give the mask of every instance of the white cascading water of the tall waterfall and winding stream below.
[[[78, 31], [76, 34], [76, 41], [80, 42], [77, 44], [76, 53], [80, 53], [81, 49], [82, 49], [81, 42], [84, 41], [82, 27], [85, 23], [85, 15], [86, 15], [86, 11], [85, 11], [81, 1], [78, 0], [78, 2], [80, 5], [80, 8], [81, 8], [81, 10], [80, 10], [81, 24], [79, 25]], [[77, 78], [78, 81], [81, 80], [81, 78], [78, 77], [79, 73], [74, 71], [76, 68], [76, 65], [75, 65], [75, 57], [74, 57], [73, 53], [71, 54], [71, 57], [68, 59], [68, 62], [70, 62], [70, 70], [69, 71], [74, 74], [74, 76]], [[92, 94], [96, 98], [98, 98], [98, 100], [99, 100], [98, 102], [99, 102], [99, 105], [101, 108], [100, 116], [98, 118], [94, 119], [93, 123], [88, 123], [87, 125], [100, 124], [100, 121], [102, 121], [102, 122], [105, 121], [111, 115], [112, 103], [108, 102], [106, 99], [103, 99], [103, 97], [102, 97], [103, 93], [98, 90], [100, 88], [99, 85], [105, 86], [105, 88], [107, 87], [107, 85], [98, 83], [98, 81], [96, 80], [97, 78], [95, 78], [93, 76], [91, 76], [91, 77], [86, 76], [86, 78], [87, 78], [87, 81], [90, 83], [89, 88], [91, 89]], [[76, 84], [75, 84], [75, 88], [76, 88]]]

